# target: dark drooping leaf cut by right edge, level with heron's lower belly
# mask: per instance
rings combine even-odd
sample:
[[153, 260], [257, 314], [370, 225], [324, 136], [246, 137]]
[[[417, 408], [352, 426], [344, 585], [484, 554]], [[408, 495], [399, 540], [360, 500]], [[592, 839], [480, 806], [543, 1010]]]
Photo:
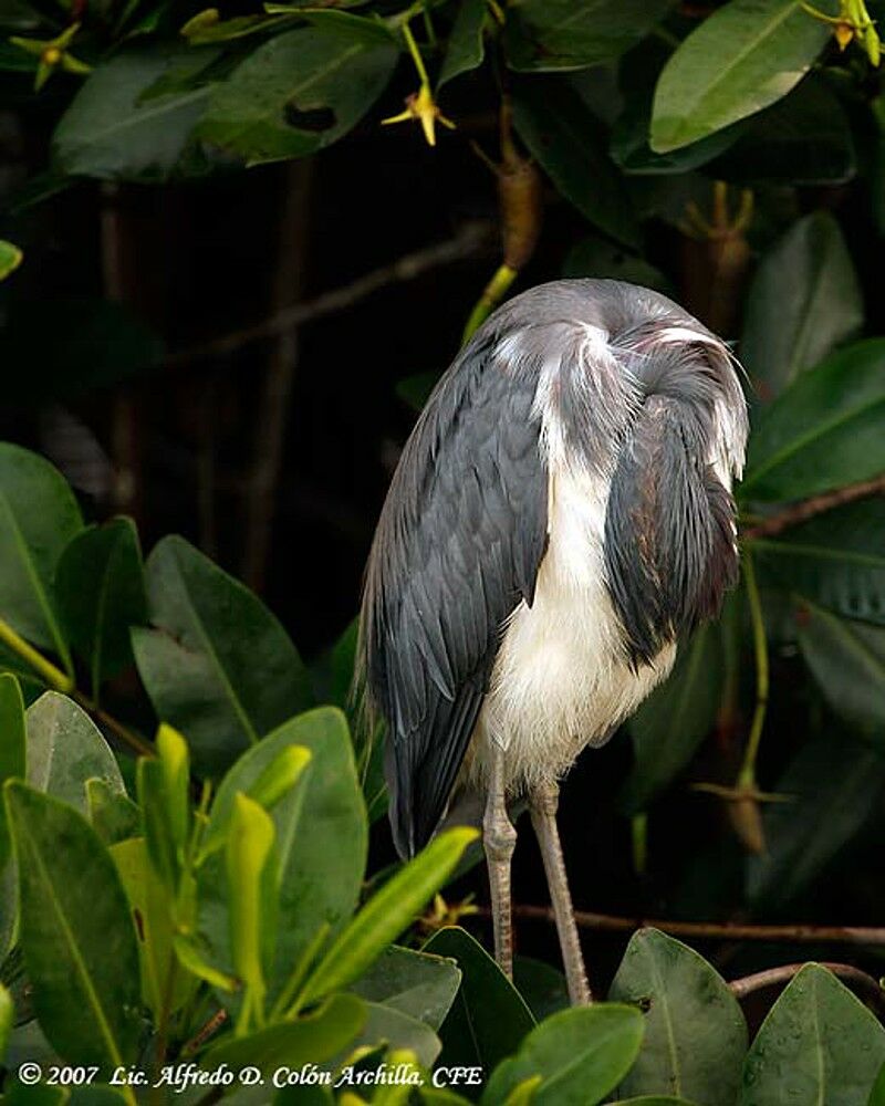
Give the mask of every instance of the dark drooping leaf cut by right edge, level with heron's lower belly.
[[885, 626], [806, 607], [799, 648], [833, 711], [885, 754]]

